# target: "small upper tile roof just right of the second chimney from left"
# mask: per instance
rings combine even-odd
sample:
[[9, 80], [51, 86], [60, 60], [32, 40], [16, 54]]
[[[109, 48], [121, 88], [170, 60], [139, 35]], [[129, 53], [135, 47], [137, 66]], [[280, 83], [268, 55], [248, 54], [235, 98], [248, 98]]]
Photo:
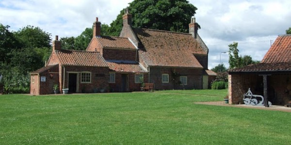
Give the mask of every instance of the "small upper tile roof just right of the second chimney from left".
[[113, 37], [113, 36], [101, 36], [101, 37], [97, 37], [97, 40], [105, 48], [119, 48], [119, 49], [136, 50], [136, 48], [129, 41], [128, 38]]

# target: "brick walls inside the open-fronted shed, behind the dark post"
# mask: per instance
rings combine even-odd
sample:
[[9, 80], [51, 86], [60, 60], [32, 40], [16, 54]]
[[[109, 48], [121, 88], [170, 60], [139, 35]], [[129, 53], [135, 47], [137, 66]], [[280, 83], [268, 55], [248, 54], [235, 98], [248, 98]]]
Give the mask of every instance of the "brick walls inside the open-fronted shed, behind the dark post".
[[[268, 101], [284, 105], [291, 101], [290, 75], [272, 74], [268, 76]], [[264, 95], [263, 77], [259, 74], [229, 74], [228, 96], [230, 104], [243, 103], [243, 94], [251, 89], [254, 95]], [[290, 91], [289, 91], [290, 90]]]

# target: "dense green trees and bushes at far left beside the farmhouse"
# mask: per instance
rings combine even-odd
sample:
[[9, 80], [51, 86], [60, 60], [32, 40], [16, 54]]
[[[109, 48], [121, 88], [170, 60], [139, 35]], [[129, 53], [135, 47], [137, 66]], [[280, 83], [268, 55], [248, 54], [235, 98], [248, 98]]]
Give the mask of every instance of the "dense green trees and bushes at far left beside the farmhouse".
[[29, 73], [44, 66], [50, 54], [50, 34], [27, 26], [16, 32], [0, 24], [0, 73], [6, 93], [29, 91]]

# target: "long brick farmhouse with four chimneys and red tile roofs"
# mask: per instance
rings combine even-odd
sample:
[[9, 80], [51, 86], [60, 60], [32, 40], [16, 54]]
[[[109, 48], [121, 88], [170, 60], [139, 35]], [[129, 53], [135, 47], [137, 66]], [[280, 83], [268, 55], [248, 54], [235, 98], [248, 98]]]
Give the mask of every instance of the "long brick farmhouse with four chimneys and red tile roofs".
[[209, 50], [195, 18], [189, 33], [138, 29], [131, 22], [126, 11], [120, 36], [101, 36], [96, 18], [86, 51], [64, 50], [56, 36], [47, 66], [31, 73], [31, 94], [51, 94], [55, 84], [71, 93], [138, 91], [142, 83], [158, 90], [209, 88], [216, 73], [208, 70]]

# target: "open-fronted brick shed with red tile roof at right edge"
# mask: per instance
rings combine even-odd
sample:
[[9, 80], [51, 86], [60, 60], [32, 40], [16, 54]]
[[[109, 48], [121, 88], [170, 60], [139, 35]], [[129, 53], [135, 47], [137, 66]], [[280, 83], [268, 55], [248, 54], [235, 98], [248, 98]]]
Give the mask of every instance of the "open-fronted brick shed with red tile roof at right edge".
[[290, 34], [278, 36], [259, 64], [228, 71], [230, 103], [243, 103], [243, 94], [248, 88], [253, 94], [267, 96], [272, 104], [284, 105], [291, 101]]

